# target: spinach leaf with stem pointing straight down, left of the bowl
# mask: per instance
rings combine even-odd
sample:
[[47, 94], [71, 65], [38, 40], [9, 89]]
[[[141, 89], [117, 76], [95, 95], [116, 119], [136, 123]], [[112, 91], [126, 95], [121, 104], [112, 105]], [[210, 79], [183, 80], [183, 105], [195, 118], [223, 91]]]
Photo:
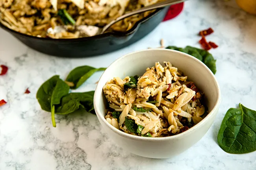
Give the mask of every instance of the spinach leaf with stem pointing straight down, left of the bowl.
[[54, 118], [55, 105], [58, 105], [61, 101], [61, 98], [63, 96], [66, 96], [67, 94], [69, 94], [69, 86], [62, 79], [58, 79], [51, 97], [51, 113], [52, 113], [51, 115], [52, 115], [53, 127], [56, 127], [55, 118]]

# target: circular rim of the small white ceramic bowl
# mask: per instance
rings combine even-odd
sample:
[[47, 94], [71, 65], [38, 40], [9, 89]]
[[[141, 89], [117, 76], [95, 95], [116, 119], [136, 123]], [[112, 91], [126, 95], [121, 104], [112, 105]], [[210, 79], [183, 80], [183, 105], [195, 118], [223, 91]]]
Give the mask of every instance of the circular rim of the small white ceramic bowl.
[[[193, 59], [195, 60], [196, 62], [198, 62], [200, 65], [202, 65], [206, 71], [208, 73], [210, 73], [211, 75], [211, 78], [213, 79], [214, 83], [215, 83], [215, 87], [217, 88], [217, 100], [216, 102], [214, 103], [214, 107], [213, 109], [211, 109], [211, 111], [208, 113], [208, 115], [203, 118], [198, 124], [196, 124], [195, 126], [191, 127], [190, 129], [182, 132], [182, 133], [179, 133], [177, 135], [173, 135], [173, 136], [169, 136], [169, 137], [152, 137], [152, 138], [149, 138], [149, 137], [141, 137], [141, 136], [136, 136], [136, 135], [131, 135], [131, 134], [128, 134], [128, 133], [125, 133], [115, 127], [113, 127], [111, 124], [109, 124], [107, 122], [107, 120], [104, 118], [104, 116], [101, 113], [101, 111], [98, 109], [97, 107], [97, 104], [98, 103], [98, 98], [100, 98], [101, 94], [102, 94], [102, 89], [100, 89], [99, 87], [99, 84], [100, 84], [100, 81], [102, 79], [102, 77], [104, 76], [105, 72], [107, 70], [110, 70], [111, 66], [115, 65], [117, 62], [119, 62], [120, 60], [126, 58], [126, 57], [129, 57], [130, 55], [134, 55], [136, 53], [143, 53], [145, 51], [159, 51], [159, 52], [162, 52], [162, 51], [167, 51], [167, 52], [174, 52], [174, 53], [178, 53], [178, 54], [181, 54], [181, 55], [184, 55], [185, 57], [188, 57], [190, 59]], [[105, 82], [106, 83], [106, 82]], [[113, 132], [117, 133], [118, 135], [121, 135], [122, 137], [125, 137], [125, 138], [128, 138], [128, 139], [134, 139], [134, 140], [144, 140], [144, 141], [159, 141], [159, 140], [170, 140], [170, 139], [176, 139], [176, 138], [180, 138], [180, 137], [183, 137], [189, 133], [191, 133], [191, 131], [194, 131], [195, 129], [197, 128], [200, 128], [203, 124], [205, 124], [211, 117], [214, 116], [213, 113], [217, 112], [218, 110], [218, 107], [219, 107], [219, 104], [220, 104], [220, 101], [221, 101], [221, 90], [220, 90], [220, 87], [219, 87], [219, 83], [216, 79], [216, 77], [214, 76], [214, 74], [211, 72], [211, 70], [204, 64], [202, 63], [202, 61], [198, 60], [197, 58], [189, 55], [189, 54], [186, 54], [184, 52], [179, 52], [179, 51], [176, 51], [176, 50], [170, 50], [170, 49], [163, 49], [163, 48], [153, 48], [153, 49], [146, 49], [146, 50], [139, 50], [139, 51], [135, 51], [135, 52], [131, 52], [129, 54], [126, 54], [126, 55], [123, 55], [122, 57], [119, 57], [118, 59], [116, 59], [113, 63], [111, 63], [108, 68], [104, 71], [104, 73], [102, 74], [102, 76], [100, 77], [99, 81], [98, 81], [98, 84], [96, 86], [96, 89], [95, 89], [95, 94], [94, 94], [94, 99], [93, 99], [93, 103], [94, 103], [94, 108], [95, 108], [95, 113], [98, 117], [98, 119], [102, 120], [102, 122], [104, 122]], [[217, 114], [217, 113], [216, 113]]]

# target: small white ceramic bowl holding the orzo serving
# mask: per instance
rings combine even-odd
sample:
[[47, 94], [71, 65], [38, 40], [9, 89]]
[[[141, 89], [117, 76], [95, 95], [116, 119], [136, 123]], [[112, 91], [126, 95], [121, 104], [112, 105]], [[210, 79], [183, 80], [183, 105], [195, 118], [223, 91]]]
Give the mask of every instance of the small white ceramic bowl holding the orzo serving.
[[[206, 96], [209, 114], [194, 127], [171, 137], [134, 136], [110, 125], [104, 118], [108, 103], [104, 98], [103, 86], [114, 77], [143, 75], [147, 67], [153, 67], [158, 61], [161, 64], [163, 61], [169, 61], [174, 67], [183, 71], [189, 80], [194, 81]], [[217, 115], [220, 96], [221, 92], [215, 76], [204, 63], [195, 57], [175, 50], [148, 49], [124, 55], [106, 69], [96, 87], [94, 107], [98, 120], [109, 139], [124, 150], [143, 157], [170, 158], [184, 152], [205, 135]]]

